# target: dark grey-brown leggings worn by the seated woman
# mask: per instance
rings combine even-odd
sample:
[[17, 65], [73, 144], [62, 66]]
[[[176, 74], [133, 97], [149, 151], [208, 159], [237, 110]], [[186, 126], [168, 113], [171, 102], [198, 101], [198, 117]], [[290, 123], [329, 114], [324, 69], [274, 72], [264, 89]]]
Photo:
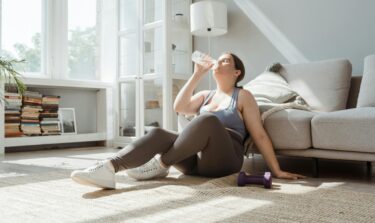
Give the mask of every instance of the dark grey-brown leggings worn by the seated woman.
[[194, 118], [180, 133], [155, 128], [111, 158], [115, 171], [141, 166], [156, 154], [187, 175], [222, 177], [241, 170], [241, 137], [226, 129], [216, 116]]

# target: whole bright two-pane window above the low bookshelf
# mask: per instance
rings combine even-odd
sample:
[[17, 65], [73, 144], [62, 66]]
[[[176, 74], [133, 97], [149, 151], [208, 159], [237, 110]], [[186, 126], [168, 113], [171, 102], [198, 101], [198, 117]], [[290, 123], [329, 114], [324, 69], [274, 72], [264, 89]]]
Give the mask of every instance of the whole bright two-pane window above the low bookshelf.
[[99, 80], [100, 2], [0, 0], [0, 55], [26, 77]]

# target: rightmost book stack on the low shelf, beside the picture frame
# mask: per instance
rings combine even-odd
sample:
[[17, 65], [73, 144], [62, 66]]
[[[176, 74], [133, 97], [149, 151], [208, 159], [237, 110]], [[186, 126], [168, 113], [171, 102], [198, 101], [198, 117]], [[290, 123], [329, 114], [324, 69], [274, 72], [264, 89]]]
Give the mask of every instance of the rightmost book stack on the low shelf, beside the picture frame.
[[43, 95], [40, 113], [40, 125], [42, 135], [60, 135], [60, 124], [58, 118], [60, 96]]

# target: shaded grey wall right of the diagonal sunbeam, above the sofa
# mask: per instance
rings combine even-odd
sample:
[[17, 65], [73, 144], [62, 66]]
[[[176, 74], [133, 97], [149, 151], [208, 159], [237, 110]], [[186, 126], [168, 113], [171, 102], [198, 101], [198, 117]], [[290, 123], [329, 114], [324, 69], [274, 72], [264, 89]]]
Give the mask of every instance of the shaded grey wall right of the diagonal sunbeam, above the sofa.
[[347, 58], [353, 74], [375, 53], [373, 0], [251, 0], [311, 61]]

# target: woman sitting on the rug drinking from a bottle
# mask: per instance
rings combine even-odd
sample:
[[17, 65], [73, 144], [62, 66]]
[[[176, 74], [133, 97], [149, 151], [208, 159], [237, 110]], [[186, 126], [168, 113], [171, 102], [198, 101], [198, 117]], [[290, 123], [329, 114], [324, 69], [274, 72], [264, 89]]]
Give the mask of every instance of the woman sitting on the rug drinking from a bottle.
[[[172, 165], [189, 175], [230, 175], [241, 170], [247, 132], [275, 177], [304, 178], [280, 169], [254, 97], [237, 87], [245, 75], [242, 61], [232, 53], [224, 53], [213, 66], [209, 60], [203, 65], [195, 64], [193, 75], [177, 95], [176, 112], [199, 114], [180, 134], [155, 128], [110, 159], [74, 171], [72, 179], [100, 188], [115, 188], [114, 175], [120, 170], [126, 169], [130, 177], [146, 180], [167, 176]], [[217, 89], [193, 95], [211, 68]], [[157, 154], [160, 156], [156, 157]]]

